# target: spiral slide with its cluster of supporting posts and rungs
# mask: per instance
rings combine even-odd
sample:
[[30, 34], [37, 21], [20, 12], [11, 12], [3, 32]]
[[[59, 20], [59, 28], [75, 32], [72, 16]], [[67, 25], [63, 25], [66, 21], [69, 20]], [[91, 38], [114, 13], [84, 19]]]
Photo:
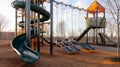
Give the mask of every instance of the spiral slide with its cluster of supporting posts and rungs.
[[[42, 3], [44, 0], [42, 1]], [[50, 14], [44, 10], [43, 8], [37, 6], [40, 5], [40, 1], [33, 0], [26, 0], [26, 1], [14, 1], [12, 2], [12, 6], [16, 9], [16, 22], [17, 22], [17, 11], [24, 10], [26, 11], [26, 15], [22, 16], [22, 21], [19, 22], [19, 27], [22, 27], [25, 29], [25, 33], [22, 35], [17, 36], [12, 40], [11, 46], [14, 49], [14, 51], [19, 55], [20, 59], [26, 63], [33, 63], [36, 62], [40, 58], [40, 43], [39, 43], [39, 37], [40, 33], [42, 32], [40, 29], [40, 23], [46, 21], [50, 18]], [[31, 10], [31, 11], [30, 11]], [[34, 11], [34, 19], [31, 19], [30, 12]], [[32, 12], [33, 13], [33, 12]], [[38, 18], [35, 18], [35, 14], [38, 13]], [[42, 18], [40, 18], [40, 14], [42, 15]], [[25, 20], [24, 20], [25, 18]], [[25, 22], [26, 21], [26, 22]], [[37, 23], [37, 27], [34, 27], [33, 24]], [[17, 28], [17, 27], [16, 27]], [[35, 38], [37, 36], [37, 44], [34, 44], [34, 49], [31, 49], [31, 39]], [[37, 46], [37, 47], [36, 47]]]

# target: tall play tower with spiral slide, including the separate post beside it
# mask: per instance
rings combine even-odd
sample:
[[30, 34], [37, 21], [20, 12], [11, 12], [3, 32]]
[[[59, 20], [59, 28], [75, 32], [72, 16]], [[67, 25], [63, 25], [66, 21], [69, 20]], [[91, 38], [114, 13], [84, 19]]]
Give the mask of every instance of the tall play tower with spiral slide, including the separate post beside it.
[[[42, 22], [49, 20], [52, 15], [41, 7], [45, 1], [15, 0], [12, 2], [12, 7], [16, 9], [16, 37], [11, 41], [11, 47], [25, 63], [34, 63], [40, 58], [40, 38], [42, 38], [40, 35], [43, 32], [40, 26], [43, 25], [41, 24]], [[53, 1], [51, 0], [50, 2], [52, 3]], [[20, 12], [21, 14], [18, 17]], [[17, 26], [22, 28], [22, 30], [24, 29], [20, 35], [17, 35]], [[52, 36], [53, 34], [51, 34], [50, 54], [53, 53]], [[34, 48], [32, 48], [32, 39], [37, 41], [33, 43]]]

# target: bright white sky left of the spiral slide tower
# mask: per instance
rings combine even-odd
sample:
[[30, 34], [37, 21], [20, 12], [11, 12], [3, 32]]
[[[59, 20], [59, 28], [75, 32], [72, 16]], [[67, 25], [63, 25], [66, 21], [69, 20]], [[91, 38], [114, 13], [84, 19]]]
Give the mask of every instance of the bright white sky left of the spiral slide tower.
[[13, 31], [15, 25], [15, 9], [12, 8], [11, 2], [13, 0], [0, 0], [0, 14], [8, 20], [8, 27], [5, 31]]

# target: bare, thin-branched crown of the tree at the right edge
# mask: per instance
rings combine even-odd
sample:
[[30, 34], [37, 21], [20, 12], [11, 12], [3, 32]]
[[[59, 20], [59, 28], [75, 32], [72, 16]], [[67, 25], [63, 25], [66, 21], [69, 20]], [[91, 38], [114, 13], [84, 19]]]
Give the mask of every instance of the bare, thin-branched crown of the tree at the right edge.
[[107, 15], [109, 18], [108, 22], [114, 23], [112, 27], [114, 27], [114, 32], [118, 34], [118, 11], [120, 10], [120, 0], [103, 0], [104, 3], [107, 5], [106, 10], [107, 10]]

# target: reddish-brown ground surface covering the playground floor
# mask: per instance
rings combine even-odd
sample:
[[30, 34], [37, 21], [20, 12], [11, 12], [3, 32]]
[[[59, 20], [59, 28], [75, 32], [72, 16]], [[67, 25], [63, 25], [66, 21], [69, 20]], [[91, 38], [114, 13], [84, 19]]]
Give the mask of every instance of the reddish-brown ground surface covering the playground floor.
[[97, 49], [81, 49], [79, 53], [68, 54], [62, 48], [54, 47], [54, 55], [50, 56], [49, 47], [43, 46], [40, 54], [39, 61], [26, 64], [11, 49], [9, 41], [0, 41], [0, 67], [120, 67], [120, 62], [109, 59], [116, 56], [115, 53]]

